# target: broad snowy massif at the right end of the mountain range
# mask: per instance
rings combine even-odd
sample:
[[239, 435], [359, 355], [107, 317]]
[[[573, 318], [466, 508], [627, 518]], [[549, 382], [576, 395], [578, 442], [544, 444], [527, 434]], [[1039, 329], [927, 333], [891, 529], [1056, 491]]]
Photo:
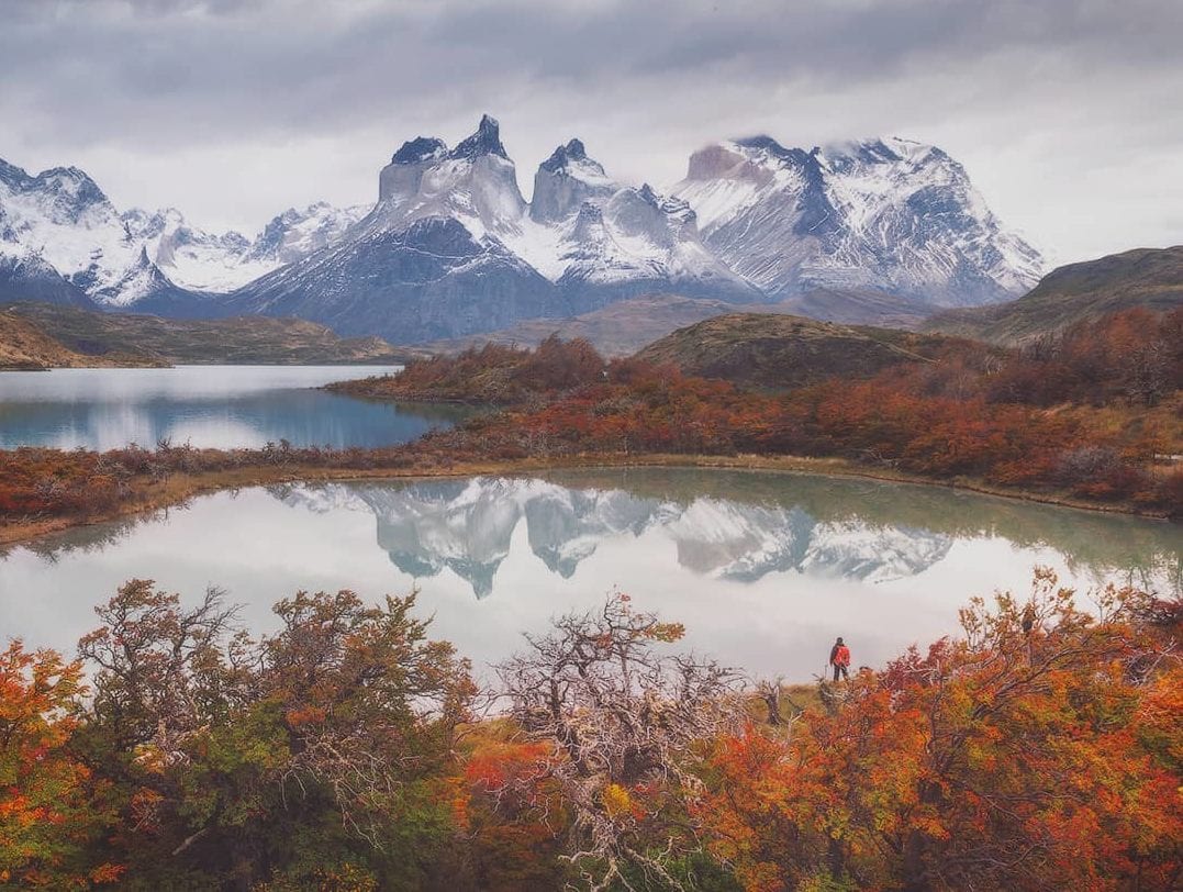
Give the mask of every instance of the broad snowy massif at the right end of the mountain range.
[[771, 298], [874, 287], [937, 305], [1008, 299], [1042, 271], [965, 169], [887, 138], [787, 149], [768, 136], [694, 153], [674, 194], [706, 245]]

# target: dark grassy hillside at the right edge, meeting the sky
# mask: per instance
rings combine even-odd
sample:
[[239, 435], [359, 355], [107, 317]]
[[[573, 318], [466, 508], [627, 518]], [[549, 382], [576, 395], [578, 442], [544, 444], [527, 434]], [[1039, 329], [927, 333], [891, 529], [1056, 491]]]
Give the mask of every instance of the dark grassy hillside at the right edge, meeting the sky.
[[1017, 345], [1120, 310], [1170, 310], [1181, 305], [1183, 245], [1139, 248], [1061, 266], [1017, 300], [943, 312], [922, 328]]

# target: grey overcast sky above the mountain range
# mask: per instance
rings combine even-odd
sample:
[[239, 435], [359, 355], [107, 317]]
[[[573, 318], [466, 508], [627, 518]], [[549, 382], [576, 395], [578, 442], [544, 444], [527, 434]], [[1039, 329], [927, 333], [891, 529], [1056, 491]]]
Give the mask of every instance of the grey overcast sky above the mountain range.
[[253, 234], [481, 112], [675, 182], [767, 132], [940, 146], [1054, 263], [1183, 243], [1179, 0], [0, 0], [0, 157]]

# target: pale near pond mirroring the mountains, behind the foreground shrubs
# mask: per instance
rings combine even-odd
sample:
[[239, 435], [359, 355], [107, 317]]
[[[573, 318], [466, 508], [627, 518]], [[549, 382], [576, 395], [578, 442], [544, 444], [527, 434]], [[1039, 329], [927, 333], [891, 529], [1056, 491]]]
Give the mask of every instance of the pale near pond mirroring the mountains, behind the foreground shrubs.
[[[936, 487], [694, 470], [225, 492], [0, 551], [0, 638], [71, 649], [123, 581], [207, 586], [248, 628], [297, 589], [421, 589], [433, 635], [478, 668], [614, 587], [686, 625], [685, 646], [808, 680], [843, 635], [855, 665], [955, 632], [970, 595], [1032, 568], [1090, 589], [1179, 590], [1177, 525]], [[484, 671], [484, 670], [483, 670]]]

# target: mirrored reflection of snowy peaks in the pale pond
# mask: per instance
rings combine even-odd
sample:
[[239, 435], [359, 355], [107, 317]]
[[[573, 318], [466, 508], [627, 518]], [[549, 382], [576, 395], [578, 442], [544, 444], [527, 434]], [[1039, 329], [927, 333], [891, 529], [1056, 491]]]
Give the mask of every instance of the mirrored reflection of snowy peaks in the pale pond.
[[715, 497], [679, 503], [538, 479], [297, 484], [279, 492], [286, 504], [312, 511], [373, 512], [377, 544], [400, 570], [422, 578], [451, 570], [477, 597], [492, 593], [523, 523], [530, 551], [564, 578], [619, 536], [652, 536], [657, 548], [672, 544], [683, 567], [744, 582], [788, 571], [885, 582], [925, 570], [952, 545], [950, 536], [859, 517], [817, 521], [802, 506]]

